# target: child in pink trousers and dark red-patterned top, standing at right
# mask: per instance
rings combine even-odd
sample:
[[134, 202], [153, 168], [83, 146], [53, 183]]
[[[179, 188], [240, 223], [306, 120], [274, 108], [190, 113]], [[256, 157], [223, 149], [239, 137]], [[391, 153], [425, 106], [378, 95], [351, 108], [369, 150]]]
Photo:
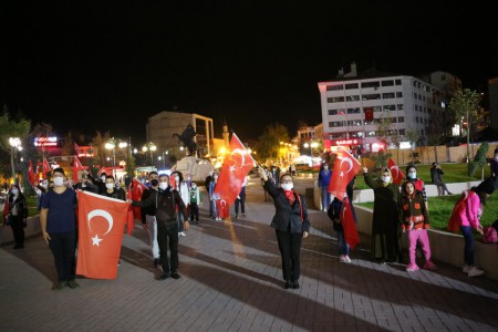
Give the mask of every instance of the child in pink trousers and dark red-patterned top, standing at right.
[[424, 251], [424, 269], [435, 270], [436, 264], [430, 261], [430, 246], [427, 236], [427, 229], [429, 228], [427, 206], [423, 194], [415, 191], [415, 185], [412, 181], [405, 181], [402, 185], [400, 220], [403, 232], [408, 235], [409, 263], [406, 267], [406, 271], [414, 272], [419, 269], [415, 255], [417, 242], [421, 242], [422, 251]]

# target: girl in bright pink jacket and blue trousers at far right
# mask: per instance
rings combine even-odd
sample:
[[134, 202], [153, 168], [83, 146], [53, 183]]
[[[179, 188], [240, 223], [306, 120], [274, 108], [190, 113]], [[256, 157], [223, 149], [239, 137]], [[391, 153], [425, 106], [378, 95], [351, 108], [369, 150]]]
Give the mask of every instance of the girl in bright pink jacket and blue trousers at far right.
[[449, 217], [448, 229], [455, 232], [459, 230], [464, 235], [465, 248], [464, 260], [465, 266], [461, 271], [468, 277], [478, 277], [485, 271], [474, 263], [474, 235], [473, 229], [483, 235], [483, 226], [479, 218], [483, 215], [483, 205], [489, 195], [495, 191], [495, 183], [492, 178], [487, 178], [477, 187], [461, 193], [460, 199], [455, 204], [452, 216]]

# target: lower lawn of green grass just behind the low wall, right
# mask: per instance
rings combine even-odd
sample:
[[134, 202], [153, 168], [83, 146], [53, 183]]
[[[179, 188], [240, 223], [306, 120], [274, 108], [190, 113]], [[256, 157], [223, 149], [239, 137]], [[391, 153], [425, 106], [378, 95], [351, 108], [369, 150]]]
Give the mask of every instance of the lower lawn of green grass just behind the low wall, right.
[[[460, 195], [442, 196], [442, 197], [428, 197], [428, 209], [430, 216], [430, 227], [446, 230], [448, 226], [449, 216], [452, 215], [455, 203]], [[359, 203], [359, 206], [373, 208], [373, 201]], [[487, 204], [484, 206], [483, 217], [480, 224], [484, 226], [491, 225], [498, 219], [498, 194], [489, 196]]]

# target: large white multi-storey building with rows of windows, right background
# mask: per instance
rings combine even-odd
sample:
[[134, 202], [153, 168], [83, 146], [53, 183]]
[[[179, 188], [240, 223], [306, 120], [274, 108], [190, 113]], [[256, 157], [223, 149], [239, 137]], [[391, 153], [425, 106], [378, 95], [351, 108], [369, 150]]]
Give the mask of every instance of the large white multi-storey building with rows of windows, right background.
[[[391, 118], [388, 134], [419, 133], [419, 143], [443, 134], [444, 91], [421, 79], [393, 73], [367, 71], [350, 73], [336, 80], [318, 83], [323, 121], [323, 147], [343, 145], [349, 148], [377, 151], [382, 117]], [[390, 136], [387, 135], [387, 136]]]

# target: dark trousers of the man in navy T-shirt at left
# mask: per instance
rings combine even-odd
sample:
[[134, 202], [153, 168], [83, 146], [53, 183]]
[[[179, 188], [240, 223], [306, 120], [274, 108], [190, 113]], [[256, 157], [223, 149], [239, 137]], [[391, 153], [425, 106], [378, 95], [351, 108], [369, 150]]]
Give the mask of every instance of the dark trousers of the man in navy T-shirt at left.
[[49, 246], [58, 270], [59, 281], [74, 280], [76, 231], [51, 232]]

